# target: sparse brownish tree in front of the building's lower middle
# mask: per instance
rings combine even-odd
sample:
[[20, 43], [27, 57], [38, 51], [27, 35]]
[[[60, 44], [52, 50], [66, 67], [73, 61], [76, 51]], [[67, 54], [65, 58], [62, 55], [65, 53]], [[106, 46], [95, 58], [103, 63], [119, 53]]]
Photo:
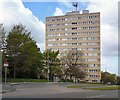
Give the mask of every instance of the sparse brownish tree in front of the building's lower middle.
[[[78, 50], [71, 50], [62, 57], [62, 65], [66, 67], [65, 73], [69, 73], [70, 80], [72, 77], [83, 79], [86, 76], [83, 52]], [[66, 75], [66, 76], [67, 76]]]

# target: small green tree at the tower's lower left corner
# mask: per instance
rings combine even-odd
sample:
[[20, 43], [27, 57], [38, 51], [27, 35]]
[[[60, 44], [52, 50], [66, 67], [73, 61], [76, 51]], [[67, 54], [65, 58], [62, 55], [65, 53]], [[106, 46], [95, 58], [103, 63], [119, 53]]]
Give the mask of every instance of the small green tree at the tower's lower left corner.
[[46, 50], [43, 53], [43, 58], [44, 58], [44, 65], [47, 68], [44, 69], [46, 72], [46, 76], [48, 74], [49, 70], [49, 78], [53, 80], [53, 76], [56, 74], [57, 76], [61, 77], [62, 76], [62, 68], [60, 66], [60, 60], [57, 58], [59, 54], [58, 51], [52, 51], [52, 50]]

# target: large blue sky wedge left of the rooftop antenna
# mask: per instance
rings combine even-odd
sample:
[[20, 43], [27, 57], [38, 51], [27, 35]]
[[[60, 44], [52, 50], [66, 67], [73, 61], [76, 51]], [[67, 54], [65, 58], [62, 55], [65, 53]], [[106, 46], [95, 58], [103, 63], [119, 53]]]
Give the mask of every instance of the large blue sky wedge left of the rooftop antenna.
[[45, 23], [45, 18], [52, 16], [59, 4], [55, 2], [24, 2], [24, 6], [29, 8], [35, 16]]

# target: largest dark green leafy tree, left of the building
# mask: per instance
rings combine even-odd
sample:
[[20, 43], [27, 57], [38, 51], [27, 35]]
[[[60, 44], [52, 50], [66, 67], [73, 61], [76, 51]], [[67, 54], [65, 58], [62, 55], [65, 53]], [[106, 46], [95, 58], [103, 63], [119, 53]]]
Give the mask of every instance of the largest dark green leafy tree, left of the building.
[[31, 32], [19, 24], [7, 36], [11, 77], [37, 78], [42, 70], [42, 53], [30, 35]]

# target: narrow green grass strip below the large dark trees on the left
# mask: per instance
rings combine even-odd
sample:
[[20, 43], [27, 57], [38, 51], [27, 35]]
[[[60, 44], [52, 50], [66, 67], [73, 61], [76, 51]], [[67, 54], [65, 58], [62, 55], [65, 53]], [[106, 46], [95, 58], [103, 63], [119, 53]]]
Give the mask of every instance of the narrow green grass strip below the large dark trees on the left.
[[[9, 78], [7, 82], [48, 82], [47, 79], [21, 79], [21, 78]], [[51, 81], [49, 81], [51, 82]]]

